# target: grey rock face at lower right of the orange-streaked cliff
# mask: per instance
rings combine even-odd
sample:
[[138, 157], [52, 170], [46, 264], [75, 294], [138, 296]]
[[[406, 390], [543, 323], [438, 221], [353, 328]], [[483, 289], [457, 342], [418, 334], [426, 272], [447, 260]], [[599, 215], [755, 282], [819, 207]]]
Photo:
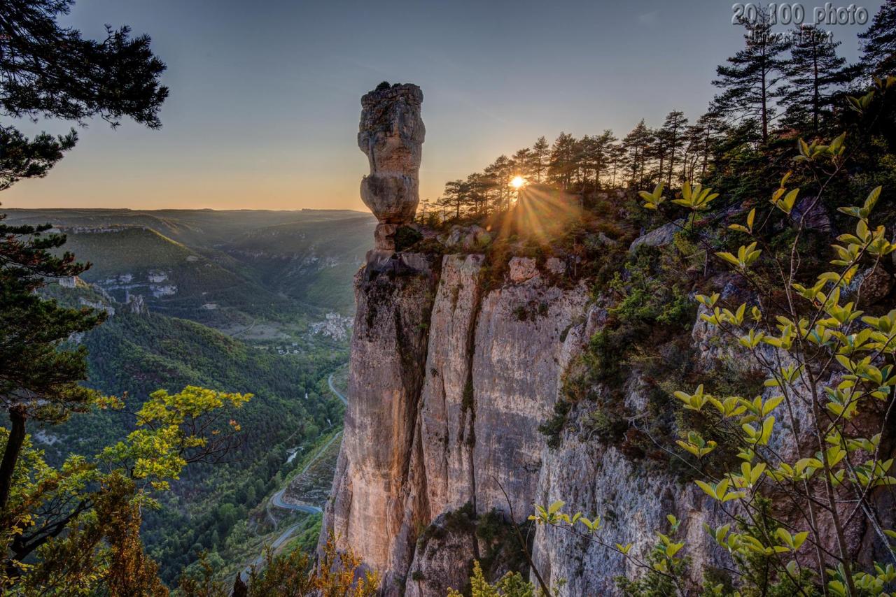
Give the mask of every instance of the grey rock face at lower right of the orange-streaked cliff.
[[[576, 409], [576, 422], [585, 412]], [[686, 538], [694, 568], [719, 566], [704, 523], [719, 524], [715, 505], [693, 484], [655, 466], [644, 468], [619, 450], [601, 442], [583, 441], [567, 432], [561, 447], [546, 450], [538, 480], [539, 504], [564, 499], [570, 511], [602, 517], [601, 536], [610, 542], [631, 543], [633, 553], [645, 554], [656, 543], [656, 532], [667, 526], [666, 516], [682, 521], [679, 538]], [[564, 580], [564, 595], [616, 594], [617, 576], [640, 576], [633, 563], [607, 548], [552, 527], [539, 526], [533, 548], [535, 565], [552, 586]]]

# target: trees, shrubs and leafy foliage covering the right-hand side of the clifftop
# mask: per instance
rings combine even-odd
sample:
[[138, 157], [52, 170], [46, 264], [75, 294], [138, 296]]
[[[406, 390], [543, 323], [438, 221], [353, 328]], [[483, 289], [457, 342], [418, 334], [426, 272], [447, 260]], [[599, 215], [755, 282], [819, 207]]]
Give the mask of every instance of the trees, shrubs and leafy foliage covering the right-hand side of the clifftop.
[[[538, 525], [628, 560], [638, 572], [618, 579], [622, 593], [882, 595], [896, 583], [896, 203], [886, 199], [896, 188], [896, 76], [872, 41], [892, 37], [894, 14], [896, 4], [884, 4], [865, 36], [866, 63], [851, 71], [834, 46], [816, 47], [830, 69], [821, 87], [805, 86], [805, 47], [747, 38], [719, 67], [723, 92], [701, 122], [736, 120], [692, 154], [671, 141], [682, 126], [672, 113], [655, 134], [639, 126], [620, 157], [605, 162], [603, 172], [625, 166], [630, 186], [648, 189], [613, 203], [624, 219], [616, 225], [643, 226], [642, 235], [595, 287], [599, 329], [542, 431], [556, 449], [578, 433], [678, 473], [718, 513], [704, 530], [724, 562], [695, 567], [691, 550], [702, 548], [672, 514], [655, 529], [655, 545], [638, 550], [604, 528], [601, 515], [612, 513], [567, 512], [562, 499], [537, 506], [530, 520]], [[761, 72], [771, 75], [751, 78], [749, 66], [770, 56]], [[788, 93], [767, 103], [783, 81]], [[598, 145], [605, 141], [611, 148], [609, 137]], [[514, 167], [536, 156], [529, 175], [538, 180], [540, 157], [550, 156], [549, 182], [577, 192], [587, 212], [592, 198], [612, 196], [597, 190], [604, 179], [589, 166], [593, 142], [561, 135], [552, 153], [543, 142], [518, 152]], [[577, 143], [578, 153], [564, 149]], [[446, 221], [462, 219], [476, 188], [450, 184], [443, 205], [455, 210]], [[468, 217], [497, 221], [504, 199], [493, 196], [472, 201]], [[528, 208], [530, 197], [516, 199], [507, 213]], [[495, 210], [477, 216], [482, 205]], [[428, 223], [444, 226], [441, 219]], [[491, 232], [500, 238], [500, 227]], [[647, 388], [646, 412], [625, 405], [633, 382]], [[535, 577], [538, 584], [513, 576], [488, 584], [477, 568], [472, 594], [561, 590]]]

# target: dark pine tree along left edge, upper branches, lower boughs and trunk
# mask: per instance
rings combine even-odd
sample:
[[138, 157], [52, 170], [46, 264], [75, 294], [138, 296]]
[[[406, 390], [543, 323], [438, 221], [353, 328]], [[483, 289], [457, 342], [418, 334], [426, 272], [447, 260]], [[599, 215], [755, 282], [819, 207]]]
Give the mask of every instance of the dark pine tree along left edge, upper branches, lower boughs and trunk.
[[[168, 89], [159, 85], [163, 64], [150, 38], [130, 38], [130, 30], [107, 28], [98, 42], [61, 27], [56, 19], [72, 0], [5, 0], [0, 4], [0, 107], [13, 118], [56, 117], [83, 124], [99, 116], [113, 126], [122, 116], [158, 128], [159, 108]], [[101, 85], [97, 81], [102, 81]], [[47, 175], [72, 149], [74, 131], [61, 137], [40, 133], [28, 139], [0, 125], [0, 190], [22, 178]], [[0, 508], [9, 499], [13, 470], [30, 418], [64, 419], [90, 404], [81, 388], [87, 373], [83, 349], [60, 347], [72, 334], [99, 324], [87, 310], [64, 309], [35, 294], [46, 277], [77, 276], [88, 266], [71, 254], [52, 251], [64, 235], [49, 226], [7, 226], [0, 217], [0, 404], [12, 422], [0, 462]]]

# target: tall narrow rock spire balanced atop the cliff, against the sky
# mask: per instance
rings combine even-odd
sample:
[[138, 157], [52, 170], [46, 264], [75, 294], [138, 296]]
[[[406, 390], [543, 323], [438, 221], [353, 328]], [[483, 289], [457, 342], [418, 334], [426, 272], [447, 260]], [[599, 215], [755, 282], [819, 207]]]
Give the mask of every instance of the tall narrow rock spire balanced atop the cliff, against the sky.
[[420, 158], [426, 127], [420, 118], [423, 91], [410, 83], [380, 83], [361, 98], [358, 148], [370, 161], [361, 199], [374, 212], [377, 251], [395, 250], [395, 232], [417, 211]]

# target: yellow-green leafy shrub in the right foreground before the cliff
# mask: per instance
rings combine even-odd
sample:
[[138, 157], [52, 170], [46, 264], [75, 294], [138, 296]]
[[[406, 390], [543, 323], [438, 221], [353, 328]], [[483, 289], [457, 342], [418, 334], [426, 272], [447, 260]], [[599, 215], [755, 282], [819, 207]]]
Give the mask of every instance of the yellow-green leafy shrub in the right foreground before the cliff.
[[[827, 144], [799, 141], [798, 149], [797, 163], [817, 177], [822, 189], [814, 201], [821, 200], [825, 181], [844, 167], [845, 137]], [[837, 237], [831, 269], [814, 283], [798, 283], [805, 280], [795, 257], [804, 217], [797, 219], [794, 248], [784, 260], [763, 250], [763, 226], [776, 211], [788, 221], [794, 209], [799, 189], [788, 188], [788, 178], [772, 193], [762, 224], [752, 209], [744, 224], [730, 226], [750, 238], [734, 252], [715, 253], [746, 284], [765, 260], [780, 272], [775, 287], [754, 285], [754, 298], [745, 303], [725, 303], [719, 294], [697, 296], [701, 319], [764, 372], [765, 391], [714, 396], [700, 385], [675, 392], [686, 411], [711, 422], [704, 433], [689, 431], [679, 439], [676, 457], [702, 472], [696, 486], [729, 518], [705, 531], [730, 555], [734, 578], [707, 580], [702, 592], [886, 595], [896, 581], [896, 557], [867, 566], [854, 555], [849, 533], [857, 524], [867, 526], [896, 554], [896, 531], [883, 528], [874, 510], [875, 492], [896, 485], [893, 458], [882, 446], [887, 418], [882, 413], [888, 412], [896, 388], [896, 310], [871, 316], [858, 308], [859, 273], [891, 259], [896, 245], [887, 240], [883, 226], [870, 220], [882, 192], [874, 188], [858, 205], [839, 208], [854, 218], [854, 232]], [[657, 209], [664, 201], [662, 191], [660, 185], [642, 192], [644, 207]], [[685, 184], [682, 197], [672, 202], [695, 214], [714, 198], [699, 185]], [[805, 405], [808, 414], [797, 418]], [[735, 450], [737, 462], [722, 471], [704, 466], [721, 447]], [[531, 518], [588, 537], [641, 567], [642, 580], [620, 582], [625, 593], [693, 592], [685, 541], [672, 539], [680, 524], [674, 516], [668, 517], [671, 532], [657, 533], [656, 546], [638, 555], [631, 545], [604, 538], [599, 523], [581, 513], [565, 514], [563, 507], [559, 500], [536, 507]], [[780, 514], [785, 511], [790, 512], [786, 518]]]

